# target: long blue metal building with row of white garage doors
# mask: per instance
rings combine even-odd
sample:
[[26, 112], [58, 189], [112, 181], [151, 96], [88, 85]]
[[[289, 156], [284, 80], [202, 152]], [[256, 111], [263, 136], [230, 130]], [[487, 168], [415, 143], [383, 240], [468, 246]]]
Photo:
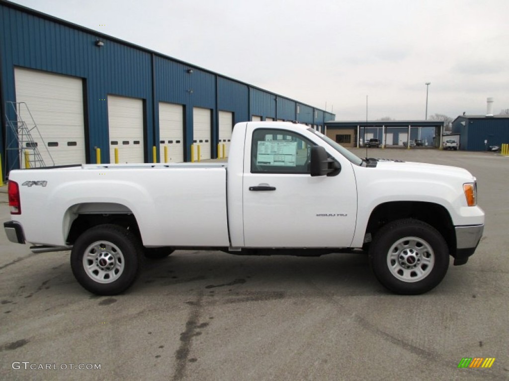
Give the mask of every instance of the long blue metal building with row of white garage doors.
[[95, 162], [96, 148], [103, 163], [114, 161], [115, 148], [124, 154], [121, 162], [162, 162], [164, 146], [169, 161], [190, 161], [193, 143], [201, 144], [202, 158], [216, 157], [224, 149], [218, 143], [229, 145], [237, 122], [297, 120], [323, 131], [324, 122], [334, 119], [313, 106], [3, 0], [0, 101], [0, 155], [7, 169], [24, 167], [14, 137], [20, 119], [41, 131], [41, 139], [33, 136], [23, 148], [33, 153], [38, 147], [46, 162], [49, 152], [55, 165]]

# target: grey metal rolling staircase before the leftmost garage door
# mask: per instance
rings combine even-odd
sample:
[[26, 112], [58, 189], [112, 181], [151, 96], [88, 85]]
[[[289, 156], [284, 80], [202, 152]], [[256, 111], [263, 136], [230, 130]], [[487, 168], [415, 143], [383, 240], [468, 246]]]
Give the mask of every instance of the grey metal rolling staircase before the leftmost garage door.
[[[15, 120], [10, 119], [9, 114], [11, 116], [15, 115]], [[46, 167], [44, 158], [39, 150], [39, 144], [41, 143], [45, 149], [46, 160], [49, 158], [50, 166], [55, 165], [51, 153], [49, 153], [48, 147], [37, 128], [34, 117], [25, 102], [6, 102], [6, 120], [7, 129], [10, 129], [12, 136], [12, 139], [6, 146], [6, 154], [12, 150], [17, 151], [20, 168]], [[34, 140], [34, 137], [37, 141]], [[7, 173], [14, 169], [15, 165], [15, 161], [11, 163]]]

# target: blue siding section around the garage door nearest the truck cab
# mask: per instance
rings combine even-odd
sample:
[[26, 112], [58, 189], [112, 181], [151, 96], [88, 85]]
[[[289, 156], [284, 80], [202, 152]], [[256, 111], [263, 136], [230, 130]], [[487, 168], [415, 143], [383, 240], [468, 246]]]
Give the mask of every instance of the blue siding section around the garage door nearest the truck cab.
[[249, 120], [249, 89], [246, 85], [227, 78], [218, 78], [218, 109], [231, 111], [234, 123]]

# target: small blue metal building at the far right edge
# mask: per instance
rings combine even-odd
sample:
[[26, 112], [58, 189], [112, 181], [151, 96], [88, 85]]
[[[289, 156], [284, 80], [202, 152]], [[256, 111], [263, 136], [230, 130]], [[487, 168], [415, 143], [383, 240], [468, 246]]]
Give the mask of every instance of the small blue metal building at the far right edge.
[[453, 121], [460, 134], [460, 149], [485, 151], [490, 145], [509, 143], [509, 115], [461, 115]]

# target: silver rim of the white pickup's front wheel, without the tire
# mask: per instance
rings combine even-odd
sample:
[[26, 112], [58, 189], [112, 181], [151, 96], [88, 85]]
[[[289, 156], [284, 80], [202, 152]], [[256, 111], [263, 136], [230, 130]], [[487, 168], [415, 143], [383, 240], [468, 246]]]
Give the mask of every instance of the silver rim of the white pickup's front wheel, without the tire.
[[387, 253], [391, 274], [404, 282], [418, 282], [430, 275], [435, 265], [431, 245], [418, 237], [405, 237], [394, 242]]

